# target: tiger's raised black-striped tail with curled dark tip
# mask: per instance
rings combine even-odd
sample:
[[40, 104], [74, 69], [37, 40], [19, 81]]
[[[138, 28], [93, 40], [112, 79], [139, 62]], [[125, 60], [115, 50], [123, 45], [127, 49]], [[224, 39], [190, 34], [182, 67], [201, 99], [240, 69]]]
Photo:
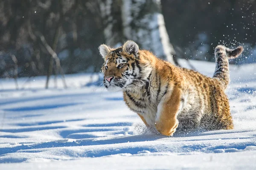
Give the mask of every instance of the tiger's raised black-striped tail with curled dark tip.
[[228, 59], [239, 57], [243, 51], [244, 48], [242, 46], [239, 46], [233, 50], [225, 47], [224, 45], [218, 45], [215, 48], [214, 54], [216, 60], [216, 68], [213, 77], [219, 79], [225, 89], [227, 88], [227, 85], [230, 81]]

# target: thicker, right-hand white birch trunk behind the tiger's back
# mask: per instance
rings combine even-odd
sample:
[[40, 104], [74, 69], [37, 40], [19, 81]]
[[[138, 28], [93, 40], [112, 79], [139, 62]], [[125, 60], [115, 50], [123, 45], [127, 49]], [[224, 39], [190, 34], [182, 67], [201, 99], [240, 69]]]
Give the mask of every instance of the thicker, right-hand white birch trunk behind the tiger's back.
[[175, 50], [169, 42], [160, 0], [122, 0], [121, 11], [125, 39], [175, 64]]

